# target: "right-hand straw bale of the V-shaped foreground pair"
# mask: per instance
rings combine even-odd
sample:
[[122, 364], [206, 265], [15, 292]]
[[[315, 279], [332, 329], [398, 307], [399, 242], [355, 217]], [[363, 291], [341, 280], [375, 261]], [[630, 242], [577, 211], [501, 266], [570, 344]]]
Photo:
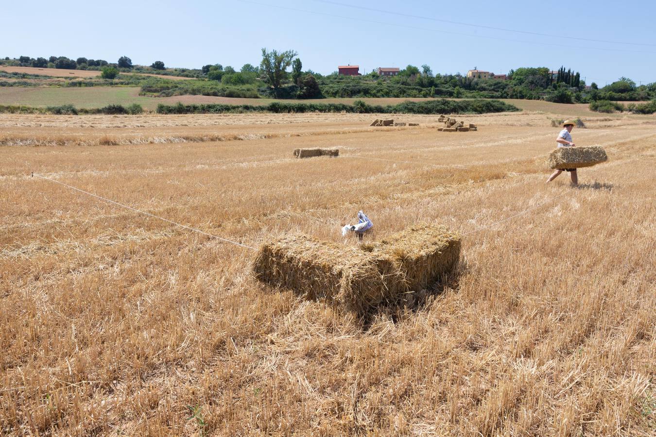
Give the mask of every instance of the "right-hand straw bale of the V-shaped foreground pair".
[[407, 292], [419, 292], [452, 271], [460, 258], [461, 236], [443, 225], [416, 225], [385, 238], [372, 254], [391, 258]]

